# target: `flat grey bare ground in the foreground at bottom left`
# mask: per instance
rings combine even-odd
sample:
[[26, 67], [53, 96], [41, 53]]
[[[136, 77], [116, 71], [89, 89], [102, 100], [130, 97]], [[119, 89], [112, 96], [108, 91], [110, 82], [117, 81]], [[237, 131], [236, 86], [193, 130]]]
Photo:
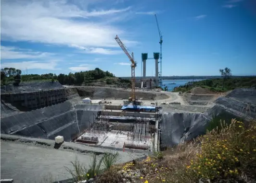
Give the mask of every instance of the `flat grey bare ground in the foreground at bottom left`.
[[[91, 152], [101, 157], [102, 153], [110, 151], [70, 142], [64, 142], [60, 149], [53, 147], [53, 140], [1, 134], [1, 179], [14, 179], [15, 183], [52, 183], [68, 179], [71, 175], [64, 167], [72, 169], [71, 161], [76, 157], [89, 168]], [[146, 151], [118, 153], [116, 163], [147, 155]], [[45, 179], [48, 181], [44, 182]]]

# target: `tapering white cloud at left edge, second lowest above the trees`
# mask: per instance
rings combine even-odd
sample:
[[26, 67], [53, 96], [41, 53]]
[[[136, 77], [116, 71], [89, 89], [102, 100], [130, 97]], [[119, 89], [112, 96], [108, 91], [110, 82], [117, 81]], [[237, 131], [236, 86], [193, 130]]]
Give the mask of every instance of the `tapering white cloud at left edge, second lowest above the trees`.
[[21, 59], [21, 58], [43, 58], [53, 54], [33, 52], [29, 49], [20, 49], [13, 46], [1, 46], [1, 59]]

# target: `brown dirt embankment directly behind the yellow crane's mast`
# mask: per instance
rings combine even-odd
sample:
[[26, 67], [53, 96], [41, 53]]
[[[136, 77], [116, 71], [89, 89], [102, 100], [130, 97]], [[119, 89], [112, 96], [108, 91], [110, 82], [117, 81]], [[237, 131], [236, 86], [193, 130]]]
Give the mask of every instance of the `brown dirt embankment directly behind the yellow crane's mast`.
[[[90, 97], [90, 99], [117, 99], [126, 100], [130, 97], [129, 90], [104, 88], [104, 87], [77, 87], [79, 96]], [[136, 92], [136, 96], [140, 100], [162, 100], [169, 98], [165, 93], [153, 92]]]

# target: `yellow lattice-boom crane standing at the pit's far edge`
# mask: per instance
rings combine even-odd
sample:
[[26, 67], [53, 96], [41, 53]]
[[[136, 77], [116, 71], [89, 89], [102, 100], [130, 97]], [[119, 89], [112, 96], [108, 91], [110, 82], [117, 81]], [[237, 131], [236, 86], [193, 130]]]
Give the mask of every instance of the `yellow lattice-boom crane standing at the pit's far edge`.
[[125, 52], [125, 54], [131, 61], [131, 97], [129, 98], [129, 102], [132, 102], [138, 105], [140, 104], [140, 101], [137, 101], [137, 98], [135, 96], [135, 67], [137, 66], [137, 62], [134, 61], [133, 52], [131, 53], [131, 56], [130, 56], [125, 45], [122, 43], [122, 41], [119, 39], [117, 35], [115, 36], [115, 41], [122, 48], [122, 50]]

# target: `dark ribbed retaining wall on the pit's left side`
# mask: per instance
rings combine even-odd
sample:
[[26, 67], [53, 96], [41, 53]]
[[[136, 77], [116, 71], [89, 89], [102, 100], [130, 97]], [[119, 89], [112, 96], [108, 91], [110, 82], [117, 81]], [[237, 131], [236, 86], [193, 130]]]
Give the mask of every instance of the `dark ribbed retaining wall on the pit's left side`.
[[57, 89], [39, 92], [6, 93], [1, 94], [1, 100], [26, 107], [27, 109], [37, 109], [66, 101], [66, 92], [65, 89]]

